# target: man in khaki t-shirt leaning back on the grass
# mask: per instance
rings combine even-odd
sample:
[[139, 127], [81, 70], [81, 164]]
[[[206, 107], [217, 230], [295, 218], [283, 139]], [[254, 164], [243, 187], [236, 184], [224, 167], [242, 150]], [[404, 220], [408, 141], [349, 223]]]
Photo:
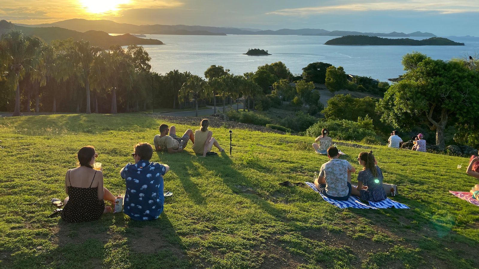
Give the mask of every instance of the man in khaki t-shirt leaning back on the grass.
[[[160, 134], [155, 135], [153, 144], [156, 151], [168, 150], [168, 153], [182, 152], [188, 145], [188, 140], [194, 144], [194, 134], [191, 129], [186, 130], [182, 137], [176, 135], [176, 127], [168, 127], [166, 124], [160, 125]], [[168, 133], [170, 135], [168, 135]]]

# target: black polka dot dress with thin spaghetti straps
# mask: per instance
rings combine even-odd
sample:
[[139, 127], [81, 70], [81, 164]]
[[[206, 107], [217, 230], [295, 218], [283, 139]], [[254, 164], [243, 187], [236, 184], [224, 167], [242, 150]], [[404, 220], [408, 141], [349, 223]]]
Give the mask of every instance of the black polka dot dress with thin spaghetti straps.
[[[96, 171], [95, 171], [96, 175]], [[105, 210], [105, 202], [98, 200], [98, 187], [89, 188], [71, 186], [70, 171], [68, 171], [68, 202], [61, 212], [61, 218], [67, 222], [87, 222], [99, 219]]]

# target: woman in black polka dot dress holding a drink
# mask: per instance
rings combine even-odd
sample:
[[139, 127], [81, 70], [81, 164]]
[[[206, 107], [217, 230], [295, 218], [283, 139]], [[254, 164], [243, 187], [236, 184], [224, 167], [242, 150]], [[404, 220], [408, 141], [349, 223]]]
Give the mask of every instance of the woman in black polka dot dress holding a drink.
[[92, 167], [97, 156], [92, 146], [84, 146], [78, 151], [80, 166], [67, 171], [65, 191], [68, 197], [61, 213], [64, 221], [92, 221], [111, 211], [103, 199], [114, 204], [115, 197], [103, 187], [103, 172]]

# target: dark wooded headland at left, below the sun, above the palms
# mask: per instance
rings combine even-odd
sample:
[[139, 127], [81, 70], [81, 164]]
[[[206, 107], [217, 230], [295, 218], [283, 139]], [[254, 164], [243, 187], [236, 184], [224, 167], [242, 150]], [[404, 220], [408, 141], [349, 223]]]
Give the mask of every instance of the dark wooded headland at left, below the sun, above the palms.
[[7, 22], [0, 21], [0, 34], [4, 34], [10, 30], [20, 30], [23, 34], [28, 36], [38, 36], [50, 43], [55, 39], [67, 39], [72, 37], [75, 41], [88, 40], [90, 45], [109, 48], [110, 45], [163, 45], [158, 39], [146, 39], [133, 36], [131, 34], [109, 35], [102, 31], [90, 30], [84, 33], [68, 30], [60, 27], [23, 27]]

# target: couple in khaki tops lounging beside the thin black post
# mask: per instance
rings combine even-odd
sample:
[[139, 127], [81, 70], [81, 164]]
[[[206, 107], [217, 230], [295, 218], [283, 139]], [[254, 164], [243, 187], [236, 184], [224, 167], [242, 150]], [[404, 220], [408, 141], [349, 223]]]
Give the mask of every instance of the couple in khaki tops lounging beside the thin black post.
[[[224, 149], [219, 146], [216, 139], [213, 137], [213, 132], [208, 130], [209, 121], [204, 119], [201, 121], [201, 128], [194, 131], [191, 129], [186, 130], [182, 137], [176, 135], [176, 127], [168, 127], [166, 124], [160, 125], [160, 134], [155, 135], [153, 138], [153, 144], [156, 151], [167, 150], [168, 153], [182, 152], [188, 145], [188, 140], [193, 143], [193, 151], [195, 154], [206, 156], [207, 152], [211, 151], [213, 146], [216, 146], [219, 151]], [[170, 134], [170, 135], [168, 135]]]

